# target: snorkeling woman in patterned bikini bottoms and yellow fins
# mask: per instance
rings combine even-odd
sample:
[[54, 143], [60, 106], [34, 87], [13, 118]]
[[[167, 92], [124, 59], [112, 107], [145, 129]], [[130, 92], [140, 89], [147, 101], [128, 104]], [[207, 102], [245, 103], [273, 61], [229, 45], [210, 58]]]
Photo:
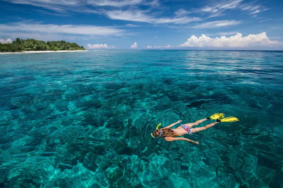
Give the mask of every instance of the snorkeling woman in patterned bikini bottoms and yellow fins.
[[[170, 129], [170, 127], [173, 127], [174, 125], [180, 123], [181, 120], [177, 121], [176, 123], [172, 123], [171, 125], [168, 125], [167, 127], [158, 129], [158, 127], [161, 125], [161, 123], [160, 123], [156, 127], [156, 130], [153, 133], [151, 133], [151, 136], [153, 137], [152, 139], [154, 139], [154, 137], [157, 137], [157, 138], [164, 137], [164, 139], [166, 141], [185, 140], [185, 141], [189, 141], [189, 142], [198, 144], [198, 142], [192, 141], [192, 140], [187, 139], [187, 138], [176, 138], [176, 137], [183, 136], [184, 134], [192, 134], [192, 133], [195, 133], [195, 132], [203, 131], [203, 130], [208, 129], [208, 128], [210, 128], [210, 127], [212, 127], [212, 126], [214, 126], [214, 125], [216, 125], [217, 123], [220, 123], [220, 122], [239, 121], [235, 117], [224, 118], [224, 119], [221, 119], [221, 120], [220, 120], [220, 118], [224, 118], [224, 114], [222, 114], [222, 113], [213, 114], [209, 118], [198, 120], [194, 123], [182, 124], [179, 127], [177, 127], [176, 129]], [[198, 125], [199, 123], [201, 123], [205, 120], [216, 120], [216, 122], [205, 125], [204, 127], [192, 128], [193, 126]]]

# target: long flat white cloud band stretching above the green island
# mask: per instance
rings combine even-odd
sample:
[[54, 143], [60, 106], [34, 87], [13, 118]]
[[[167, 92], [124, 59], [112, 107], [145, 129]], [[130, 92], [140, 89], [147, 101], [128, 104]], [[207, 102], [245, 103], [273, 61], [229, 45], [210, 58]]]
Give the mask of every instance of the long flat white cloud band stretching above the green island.
[[[25, 32], [36, 34], [69, 34], [69, 35], [90, 35], [90, 36], [123, 36], [125, 30], [112, 26], [95, 25], [56, 25], [16, 22], [0, 24], [1, 32]], [[6, 35], [7, 35], [6, 34]]]

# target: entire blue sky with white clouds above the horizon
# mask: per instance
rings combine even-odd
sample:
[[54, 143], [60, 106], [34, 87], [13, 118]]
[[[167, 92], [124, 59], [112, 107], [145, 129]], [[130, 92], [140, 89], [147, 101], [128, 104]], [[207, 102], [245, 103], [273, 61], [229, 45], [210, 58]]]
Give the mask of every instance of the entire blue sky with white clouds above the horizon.
[[0, 39], [89, 50], [283, 50], [283, 1], [0, 0]]

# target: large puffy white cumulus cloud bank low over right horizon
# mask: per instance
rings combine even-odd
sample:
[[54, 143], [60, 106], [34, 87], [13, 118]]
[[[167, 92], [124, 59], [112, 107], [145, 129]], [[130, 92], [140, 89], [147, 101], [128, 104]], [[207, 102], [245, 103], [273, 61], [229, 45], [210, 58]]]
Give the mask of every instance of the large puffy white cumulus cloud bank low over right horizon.
[[222, 36], [220, 38], [210, 38], [205, 35], [200, 37], [191, 36], [187, 41], [178, 47], [250, 47], [250, 46], [272, 46], [277, 41], [271, 41], [266, 36], [266, 33], [250, 34], [243, 37], [241, 33], [237, 33], [231, 37]]

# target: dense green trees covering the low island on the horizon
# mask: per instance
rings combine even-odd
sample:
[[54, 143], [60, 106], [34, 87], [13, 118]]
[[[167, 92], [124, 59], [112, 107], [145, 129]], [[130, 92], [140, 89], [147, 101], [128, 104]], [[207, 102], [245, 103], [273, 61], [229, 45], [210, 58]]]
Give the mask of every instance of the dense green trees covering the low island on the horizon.
[[45, 51], [45, 50], [85, 50], [77, 43], [66, 41], [39, 41], [35, 39], [16, 38], [10, 44], [0, 43], [0, 52]]

